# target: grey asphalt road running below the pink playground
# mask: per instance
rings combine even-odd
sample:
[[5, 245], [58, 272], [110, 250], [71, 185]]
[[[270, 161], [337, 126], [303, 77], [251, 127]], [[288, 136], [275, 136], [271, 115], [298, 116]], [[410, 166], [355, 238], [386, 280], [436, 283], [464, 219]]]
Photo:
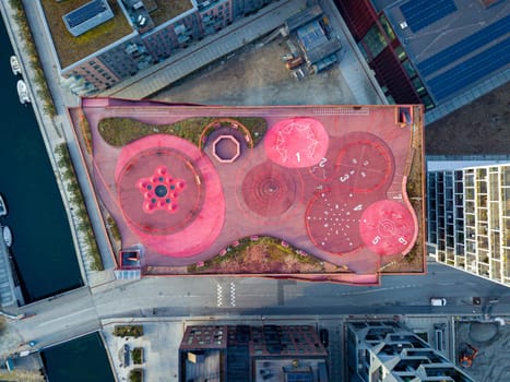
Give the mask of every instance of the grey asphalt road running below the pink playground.
[[[510, 313], [507, 287], [441, 264], [428, 268], [425, 276], [384, 276], [380, 287], [232, 277], [115, 280], [29, 305], [22, 311], [35, 315], [15, 326], [22, 342], [45, 347], [98, 330], [102, 319], [126, 317], [472, 315], [482, 312], [471, 305], [474, 296], [483, 303], [499, 301], [493, 315]], [[448, 305], [431, 307], [431, 296], [446, 297]]]

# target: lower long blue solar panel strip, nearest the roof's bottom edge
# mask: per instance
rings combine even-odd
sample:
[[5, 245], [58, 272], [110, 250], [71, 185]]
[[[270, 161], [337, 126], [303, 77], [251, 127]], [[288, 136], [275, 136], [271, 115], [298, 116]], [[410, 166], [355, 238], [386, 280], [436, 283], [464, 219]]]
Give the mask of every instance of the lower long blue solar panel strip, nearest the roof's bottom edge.
[[510, 37], [428, 81], [436, 100], [475, 83], [510, 62]]

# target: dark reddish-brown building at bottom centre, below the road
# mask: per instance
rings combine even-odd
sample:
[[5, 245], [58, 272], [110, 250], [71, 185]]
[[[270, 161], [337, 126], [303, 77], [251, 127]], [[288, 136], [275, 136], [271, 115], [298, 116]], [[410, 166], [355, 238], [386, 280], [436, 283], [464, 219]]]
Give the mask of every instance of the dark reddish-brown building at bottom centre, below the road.
[[328, 351], [310, 325], [192, 325], [179, 381], [328, 382]]

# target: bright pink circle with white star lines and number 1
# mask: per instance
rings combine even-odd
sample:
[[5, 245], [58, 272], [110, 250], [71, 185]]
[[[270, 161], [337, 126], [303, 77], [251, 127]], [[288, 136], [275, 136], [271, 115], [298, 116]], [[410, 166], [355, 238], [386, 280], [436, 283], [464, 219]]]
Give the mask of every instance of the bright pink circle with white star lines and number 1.
[[284, 119], [274, 124], [264, 138], [268, 157], [289, 168], [319, 164], [328, 144], [328, 132], [320, 121], [312, 118]]

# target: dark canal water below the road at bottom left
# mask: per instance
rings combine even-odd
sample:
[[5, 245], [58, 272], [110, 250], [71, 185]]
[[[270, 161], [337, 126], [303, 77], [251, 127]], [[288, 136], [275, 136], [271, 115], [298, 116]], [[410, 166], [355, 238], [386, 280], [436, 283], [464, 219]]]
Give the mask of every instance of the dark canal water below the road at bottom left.
[[97, 333], [50, 347], [40, 356], [50, 382], [115, 381]]

